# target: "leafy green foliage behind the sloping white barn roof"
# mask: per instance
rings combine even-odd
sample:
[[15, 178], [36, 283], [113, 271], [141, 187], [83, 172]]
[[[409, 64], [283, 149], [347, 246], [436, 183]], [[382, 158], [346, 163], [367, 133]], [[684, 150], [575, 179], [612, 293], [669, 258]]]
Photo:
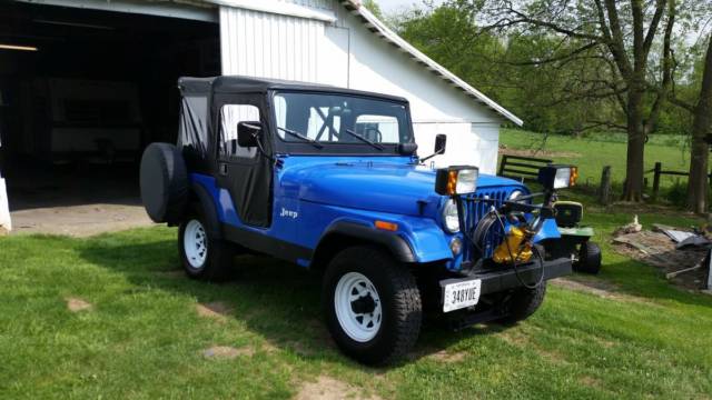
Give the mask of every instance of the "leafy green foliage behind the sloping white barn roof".
[[[621, 112], [606, 99], [609, 64], [586, 50], [566, 63], [540, 63], [566, 56], [577, 43], [561, 43], [546, 32], [483, 31], [477, 12], [462, 3], [414, 9], [395, 19], [398, 33], [537, 131], [581, 132]], [[595, 98], [597, 97], [597, 98]], [[605, 123], [602, 121], [606, 121]]]

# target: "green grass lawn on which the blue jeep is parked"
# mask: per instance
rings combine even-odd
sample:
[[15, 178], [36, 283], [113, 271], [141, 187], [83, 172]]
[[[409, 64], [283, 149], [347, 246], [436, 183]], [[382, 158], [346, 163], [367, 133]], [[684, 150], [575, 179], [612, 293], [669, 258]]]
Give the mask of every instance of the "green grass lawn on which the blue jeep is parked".
[[[550, 286], [524, 323], [428, 327], [409, 360], [383, 369], [334, 348], [319, 282], [297, 267], [240, 258], [245, 276], [215, 286], [177, 272], [175, 229], [0, 238], [0, 398], [283, 399], [305, 384], [356, 399], [710, 398], [712, 297], [613, 253], [606, 239], [630, 220], [624, 210], [586, 219], [605, 264], [575, 279], [615, 287], [612, 296]], [[71, 298], [91, 307], [71, 312]], [[221, 314], [196, 310], [215, 302]], [[206, 358], [214, 346], [237, 350]]]

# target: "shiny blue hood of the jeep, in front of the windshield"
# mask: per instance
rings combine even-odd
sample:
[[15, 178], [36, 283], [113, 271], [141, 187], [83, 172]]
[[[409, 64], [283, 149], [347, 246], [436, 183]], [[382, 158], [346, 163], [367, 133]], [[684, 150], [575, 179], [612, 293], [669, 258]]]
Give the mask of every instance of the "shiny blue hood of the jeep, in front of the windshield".
[[[397, 163], [324, 163], [290, 168], [281, 178], [299, 200], [336, 207], [419, 216], [425, 204], [437, 207], [435, 170]], [[516, 181], [481, 176], [478, 188], [518, 186]], [[285, 193], [286, 194], [286, 193]]]

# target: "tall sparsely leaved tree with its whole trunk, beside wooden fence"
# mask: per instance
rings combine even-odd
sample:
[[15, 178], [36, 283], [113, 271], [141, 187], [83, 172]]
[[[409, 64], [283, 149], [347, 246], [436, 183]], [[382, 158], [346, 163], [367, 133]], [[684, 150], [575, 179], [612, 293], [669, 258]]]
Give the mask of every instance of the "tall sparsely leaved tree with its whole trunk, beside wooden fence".
[[[490, 21], [487, 29], [542, 32], [568, 43], [573, 50], [563, 57], [533, 60], [538, 63], [567, 62], [587, 57], [589, 50], [612, 67], [607, 93], [616, 99], [625, 114], [627, 131], [626, 173], [623, 199], [641, 201], [643, 194], [644, 146], [647, 132], [656, 124], [670, 88], [669, 74], [654, 90], [652, 107], [645, 107], [649, 93], [649, 60], [656, 38], [670, 43], [675, 23], [676, 0], [473, 0]], [[574, 44], [575, 43], [575, 44]], [[668, 44], [665, 44], [666, 47]], [[663, 70], [671, 68], [670, 52], [659, 57]]]

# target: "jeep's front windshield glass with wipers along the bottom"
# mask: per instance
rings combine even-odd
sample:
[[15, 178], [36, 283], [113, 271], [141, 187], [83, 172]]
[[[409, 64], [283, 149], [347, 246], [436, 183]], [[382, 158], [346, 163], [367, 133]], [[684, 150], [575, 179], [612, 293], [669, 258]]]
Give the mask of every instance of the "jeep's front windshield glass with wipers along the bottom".
[[[407, 106], [349, 94], [278, 92], [274, 97], [277, 134], [284, 143], [326, 144], [319, 152], [393, 153], [413, 142]], [[297, 133], [297, 134], [295, 134]], [[307, 141], [306, 139], [309, 139]]]

